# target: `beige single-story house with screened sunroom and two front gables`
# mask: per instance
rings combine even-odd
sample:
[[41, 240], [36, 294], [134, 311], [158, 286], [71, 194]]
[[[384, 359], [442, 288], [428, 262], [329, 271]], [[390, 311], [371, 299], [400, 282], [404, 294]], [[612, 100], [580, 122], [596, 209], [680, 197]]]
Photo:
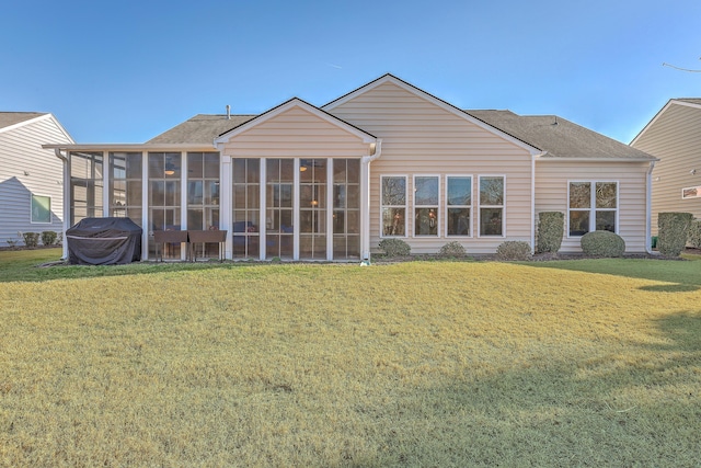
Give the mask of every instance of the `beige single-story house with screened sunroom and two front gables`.
[[154, 230], [209, 228], [228, 231], [228, 259], [367, 259], [384, 238], [487, 254], [535, 246], [543, 210], [565, 214], [563, 252], [595, 229], [648, 250], [653, 157], [556, 116], [463, 111], [391, 75], [321, 107], [197, 115], [146, 144], [45, 146], [87, 194], [67, 201], [70, 224], [128, 216], [145, 258]]

